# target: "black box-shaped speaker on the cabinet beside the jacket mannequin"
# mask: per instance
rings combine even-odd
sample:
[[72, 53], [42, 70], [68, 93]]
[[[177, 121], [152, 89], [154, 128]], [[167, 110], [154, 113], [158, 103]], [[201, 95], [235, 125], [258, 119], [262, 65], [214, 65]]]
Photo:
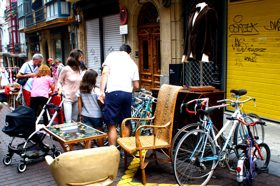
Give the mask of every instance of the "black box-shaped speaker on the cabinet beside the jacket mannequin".
[[183, 64], [169, 64], [169, 84], [183, 86]]

